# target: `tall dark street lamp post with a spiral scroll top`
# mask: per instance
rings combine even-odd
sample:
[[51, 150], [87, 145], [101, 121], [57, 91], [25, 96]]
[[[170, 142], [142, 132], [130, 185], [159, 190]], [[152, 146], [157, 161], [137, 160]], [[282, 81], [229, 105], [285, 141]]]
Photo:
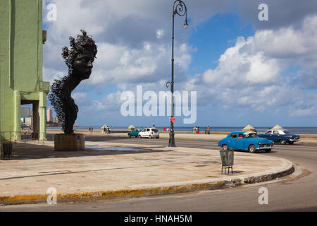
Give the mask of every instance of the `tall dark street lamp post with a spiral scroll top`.
[[174, 18], [175, 15], [178, 16], [186, 16], [185, 17], [185, 23], [184, 28], [188, 28], [187, 23], [187, 7], [185, 3], [181, 0], [174, 1], [173, 4], [173, 35], [172, 35], [172, 81], [166, 83], [166, 86], [168, 87], [170, 85], [170, 93], [172, 95], [172, 112], [170, 116], [170, 139], [168, 142], [168, 147], [175, 147], [175, 138], [174, 138]]

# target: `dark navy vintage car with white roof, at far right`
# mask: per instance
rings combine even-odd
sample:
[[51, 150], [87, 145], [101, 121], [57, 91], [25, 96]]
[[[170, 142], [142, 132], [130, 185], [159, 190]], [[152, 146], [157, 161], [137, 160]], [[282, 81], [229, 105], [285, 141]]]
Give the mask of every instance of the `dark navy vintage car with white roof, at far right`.
[[258, 134], [261, 138], [267, 138], [274, 143], [290, 143], [293, 144], [294, 142], [300, 141], [298, 135], [292, 134], [286, 129], [269, 129], [266, 133]]

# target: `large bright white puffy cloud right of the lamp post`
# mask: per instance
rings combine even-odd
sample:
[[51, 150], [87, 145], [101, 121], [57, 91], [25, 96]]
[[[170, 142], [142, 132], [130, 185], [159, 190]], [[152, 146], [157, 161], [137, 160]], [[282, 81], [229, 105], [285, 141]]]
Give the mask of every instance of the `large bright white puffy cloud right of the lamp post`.
[[266, 57], [263, 52], [254, 52], [254, 38], [238, 37], [234, 47], [220, 56], [214, 70], [205, 71], [204, 82], [223, 87], [244, 85], [267, 85], [280, 77], [278, 61]]

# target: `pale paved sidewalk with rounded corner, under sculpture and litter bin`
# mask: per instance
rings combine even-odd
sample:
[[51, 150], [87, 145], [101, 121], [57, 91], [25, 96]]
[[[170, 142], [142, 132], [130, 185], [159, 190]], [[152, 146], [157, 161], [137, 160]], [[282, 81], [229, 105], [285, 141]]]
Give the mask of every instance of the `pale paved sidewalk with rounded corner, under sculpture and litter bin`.
[[[54, 152], [54, 142], [16, 143], [13, 160], [0, 161], [0, 204], [46, 201], [49, 187], [59, 201], [116, 198], [218, 189], [292, 173], [292, 163], [271, 155], [235, 152], [234, 174], [223, 175], [219, 150], [155, 145], [120, 147], [86, 142], [86, 150]], [[113, 147], [102, 150], [101, 147]]]

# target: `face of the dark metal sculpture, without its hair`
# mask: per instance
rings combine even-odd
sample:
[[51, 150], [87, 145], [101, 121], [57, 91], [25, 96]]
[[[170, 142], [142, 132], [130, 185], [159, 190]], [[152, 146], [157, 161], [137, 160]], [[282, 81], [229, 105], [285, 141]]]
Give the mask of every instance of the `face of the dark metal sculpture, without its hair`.
[[73, 61], [73, 76], [80, 78], [80, 80], [88, 79], [92, 73], [93, 62], [94, 52], [90, 49], [85, 49]]

